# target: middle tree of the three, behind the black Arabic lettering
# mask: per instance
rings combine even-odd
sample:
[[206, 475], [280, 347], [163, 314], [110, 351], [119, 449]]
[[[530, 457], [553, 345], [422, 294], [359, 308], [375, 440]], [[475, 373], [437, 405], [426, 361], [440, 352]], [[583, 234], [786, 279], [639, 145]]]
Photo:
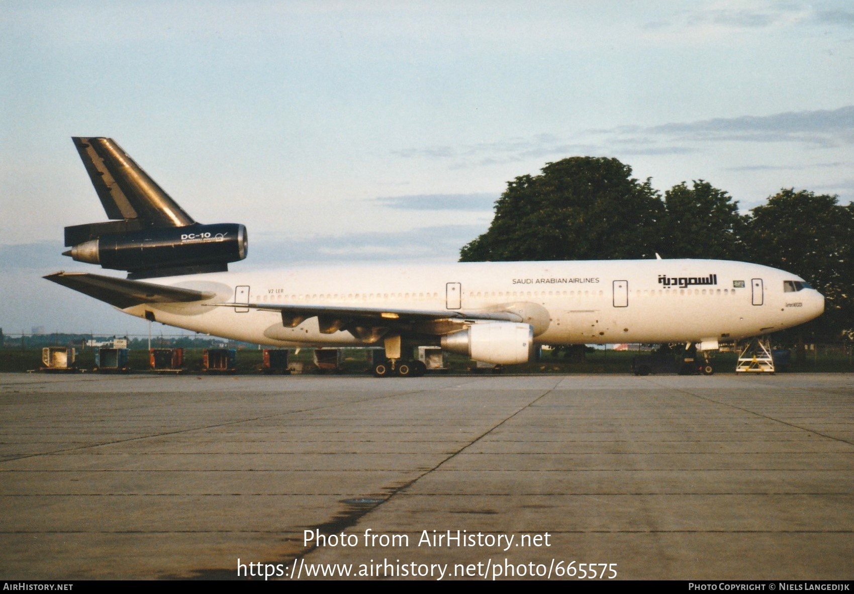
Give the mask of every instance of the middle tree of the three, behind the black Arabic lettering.
[[739, 203], [702, 179], [664, 193], [662, 255], [665, 258], [744, 259], [746, 216]]

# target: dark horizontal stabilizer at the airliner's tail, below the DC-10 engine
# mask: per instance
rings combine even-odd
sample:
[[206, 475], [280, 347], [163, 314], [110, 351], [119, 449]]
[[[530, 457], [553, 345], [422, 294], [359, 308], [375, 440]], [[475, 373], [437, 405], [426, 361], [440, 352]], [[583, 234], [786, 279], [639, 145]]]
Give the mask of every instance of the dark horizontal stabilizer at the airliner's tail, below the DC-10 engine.
[[213, 293], [190, 288], [164, 287], [151, 282], [129, 281], [124, 278], [104, 277], [89, 272], [54, 272], [44, 277], [49, 281], [73, 288], [111, 306], [125, 309], [143, 303], [187, 303], [211, 299]]

